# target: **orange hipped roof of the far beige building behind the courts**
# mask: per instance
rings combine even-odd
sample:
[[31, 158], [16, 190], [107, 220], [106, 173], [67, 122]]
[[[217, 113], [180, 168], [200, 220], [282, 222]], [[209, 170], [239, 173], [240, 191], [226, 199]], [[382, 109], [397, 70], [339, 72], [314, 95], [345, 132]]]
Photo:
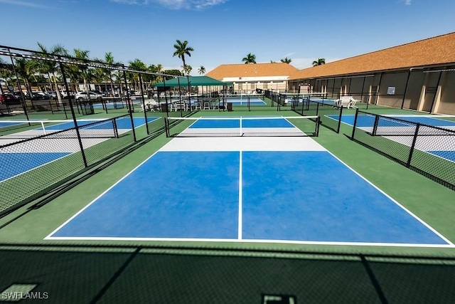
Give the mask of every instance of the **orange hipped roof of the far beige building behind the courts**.
[[223, 80], [228, 77], [289, 76], [296, 71], [297, 68], [287, 63], [242, 63], [219, 65], [205, 75]]

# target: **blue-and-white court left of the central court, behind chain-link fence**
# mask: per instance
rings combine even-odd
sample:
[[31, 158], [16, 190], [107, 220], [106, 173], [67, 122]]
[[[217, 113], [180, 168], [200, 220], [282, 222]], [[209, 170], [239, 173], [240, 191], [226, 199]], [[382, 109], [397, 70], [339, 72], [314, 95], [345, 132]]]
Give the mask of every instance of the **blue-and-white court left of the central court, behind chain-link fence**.
[[[149, 122], [157, 119], [159, 119], [159, 117], [147, 117]], [[115, 123], [119, 135], [132, 130], [132, 122], [129, 117], [119, 117], [115, 119]], [[141, 125], [144, 124], [144, 118], [134, 118], [134, 127], [141, 127]], [[28, 127], [29, 124], [28, 122], [21, 120], [0, 122], [0, 127], [10, 127], [12, 125], [23, 125], [23, 127]], [[76, 135], [74, 132], [58, 135], [52, 139], [35, 139], [33, 142], [41, 141], [42, 143], [36, 143], [36, 145], [33, 146], [29, 145], [28, 142], [20, 143], [22, 140], [31, 139], [36, 136], [73, 129], [75, 127], [73, 121], [34, 120], [31, 121], [31, 125], [36, 127], [31, 130], [15, 132], [0, 137], [0, 146], [18, 142], [16, 145], [0, 151], [1, 163], [14, 164], [14, 166], [9, 166], [7, 169], [1, 170], [0, 182], [4, 182], [7, 179], [11, 179], [12, 177], [16, 177], [80, 151], [80, 145], [77, 140], [75, 140]], [[84, 145], [85, 148], [92, 147], [115, 136], [112, 120], [78, 120], [77, 125], [82, 127], [80, 129], [80, 134], [82, 136], [82, 145]]]

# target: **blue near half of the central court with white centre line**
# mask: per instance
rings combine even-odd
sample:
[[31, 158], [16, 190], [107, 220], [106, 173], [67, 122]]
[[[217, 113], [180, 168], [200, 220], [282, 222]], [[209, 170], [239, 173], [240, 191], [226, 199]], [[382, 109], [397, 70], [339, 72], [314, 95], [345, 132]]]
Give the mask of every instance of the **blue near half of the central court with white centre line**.
[[325, 150], [161, 150], [46, 239], [454, 246]]

